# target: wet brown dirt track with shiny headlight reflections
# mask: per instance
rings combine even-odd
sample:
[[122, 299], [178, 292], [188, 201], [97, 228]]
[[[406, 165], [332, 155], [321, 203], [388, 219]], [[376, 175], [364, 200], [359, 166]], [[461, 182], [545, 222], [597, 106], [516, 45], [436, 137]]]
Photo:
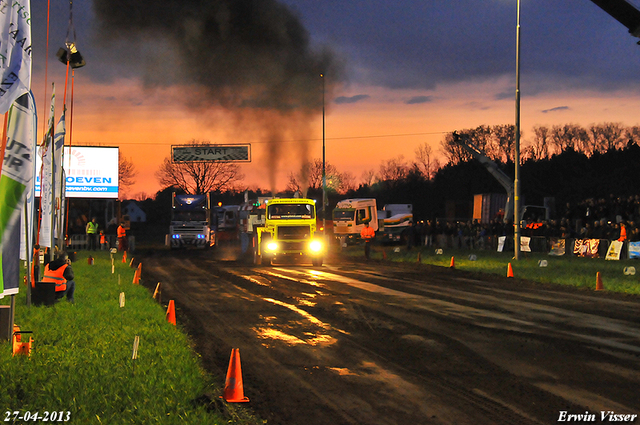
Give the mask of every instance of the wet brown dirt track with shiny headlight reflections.
[[255, 267], [211, 251], [142, 261], [221, 385], [240, 349], [245, 395], [268, 424], [640, 415], [640, 297], [414, 264]]

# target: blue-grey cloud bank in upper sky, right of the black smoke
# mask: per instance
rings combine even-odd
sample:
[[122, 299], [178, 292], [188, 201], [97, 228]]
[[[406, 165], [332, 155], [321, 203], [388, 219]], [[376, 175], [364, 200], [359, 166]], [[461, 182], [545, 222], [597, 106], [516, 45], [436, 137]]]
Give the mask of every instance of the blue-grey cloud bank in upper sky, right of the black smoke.
[[[352, 80], [399, 89], [505, 76], [514, 84], [515, 1], [283, 1], [312, 34], [340, 44], [356, 64]], [[592, 2], [522, 2], [520, 23], [523, 93], [639, 85], [638, 39]]]

